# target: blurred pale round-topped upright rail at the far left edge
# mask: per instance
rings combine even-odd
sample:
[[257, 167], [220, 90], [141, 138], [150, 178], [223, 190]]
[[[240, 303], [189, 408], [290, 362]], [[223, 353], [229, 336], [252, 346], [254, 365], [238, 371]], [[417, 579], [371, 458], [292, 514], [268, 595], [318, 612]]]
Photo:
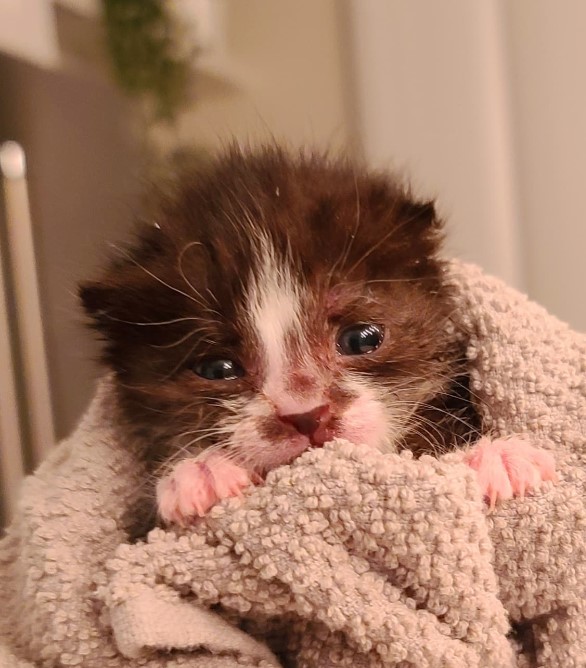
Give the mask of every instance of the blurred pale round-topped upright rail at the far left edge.
[[14, 513], [25, 471], [54, 444], [55, 430], [39, 300], [24, 151], [0, 146], [0, 511]]

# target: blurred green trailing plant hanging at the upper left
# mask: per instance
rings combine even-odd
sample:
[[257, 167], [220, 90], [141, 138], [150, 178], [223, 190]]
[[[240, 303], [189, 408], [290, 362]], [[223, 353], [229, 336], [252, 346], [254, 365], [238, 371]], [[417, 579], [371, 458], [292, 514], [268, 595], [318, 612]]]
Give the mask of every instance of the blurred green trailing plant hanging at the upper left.
[[102, 7], [116, 81], [147, 103], [153, 121], [173, 121], [186, 103], [191, 59], [180, 54], [168, 2], [102, 0]]

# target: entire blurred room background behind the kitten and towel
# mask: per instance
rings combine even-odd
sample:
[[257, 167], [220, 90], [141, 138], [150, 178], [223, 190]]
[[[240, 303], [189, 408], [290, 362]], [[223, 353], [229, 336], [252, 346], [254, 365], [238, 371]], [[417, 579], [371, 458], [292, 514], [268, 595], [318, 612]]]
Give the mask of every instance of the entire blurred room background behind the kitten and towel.
[[437, 197], [451, 254], [586, 330], [585, 25], [583, 0], [0, 0], [0, 143], [27, 163], [4, 144], [5, 486], [89, 401], [76, 284], [185, 145], [397, 169]]

